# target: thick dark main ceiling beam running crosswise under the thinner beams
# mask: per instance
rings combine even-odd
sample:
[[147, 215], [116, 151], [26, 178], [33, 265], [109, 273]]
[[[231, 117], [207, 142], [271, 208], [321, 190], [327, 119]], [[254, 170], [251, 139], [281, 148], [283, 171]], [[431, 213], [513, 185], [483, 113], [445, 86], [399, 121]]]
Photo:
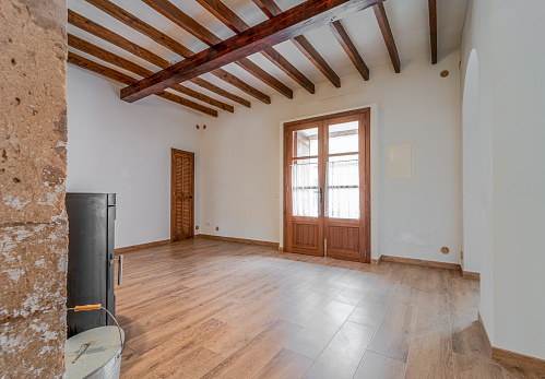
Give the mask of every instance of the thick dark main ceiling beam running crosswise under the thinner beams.
[[291, 10], [241, 32], [208, 50], [173, 64], [150, 78], [121, 90], [121, 98], [132, 103], [173, 84], [237, 61], [264, 48], [283, 43], [316, 27], [328, 25], [382, 0], [308, 0]]

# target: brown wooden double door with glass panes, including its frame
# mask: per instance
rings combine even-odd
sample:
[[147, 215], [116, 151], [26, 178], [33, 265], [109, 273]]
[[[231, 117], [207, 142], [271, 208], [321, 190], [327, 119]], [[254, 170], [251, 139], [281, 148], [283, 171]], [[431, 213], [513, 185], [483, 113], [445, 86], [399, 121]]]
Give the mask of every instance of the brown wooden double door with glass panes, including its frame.
[[370, 262], [369, 109], [284, 126], [284, 246]]

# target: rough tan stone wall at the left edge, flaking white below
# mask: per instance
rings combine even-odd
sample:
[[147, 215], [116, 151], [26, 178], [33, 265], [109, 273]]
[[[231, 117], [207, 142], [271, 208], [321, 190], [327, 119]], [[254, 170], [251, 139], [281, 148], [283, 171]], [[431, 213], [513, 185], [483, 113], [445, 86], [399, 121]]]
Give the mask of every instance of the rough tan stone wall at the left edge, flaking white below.
[[64, 371], [66, 0], [0, 0], [0, 378]]

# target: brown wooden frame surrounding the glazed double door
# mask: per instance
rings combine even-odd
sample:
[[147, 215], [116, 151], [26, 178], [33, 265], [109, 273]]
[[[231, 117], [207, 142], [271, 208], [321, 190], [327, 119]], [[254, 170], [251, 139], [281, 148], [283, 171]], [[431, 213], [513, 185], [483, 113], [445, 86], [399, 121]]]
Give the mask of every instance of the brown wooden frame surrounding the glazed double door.
[[[287, 230], [287, 224], [288, 224], [288, 214], [287, 214], [287, 209], [289, 205], [289, 199], [286, 196], [287, 191], [284, 191], [284, 188], [286, 188], [288, 181], [288, 175], [289, 170], [287, 169], [288, 165], [288, 159], [291, 157], [289, 151], [292, 146], [288, 146], [288, 141], [289, 141], [289, 133], [287, 131], [288, 128], [299, 126], [299, 125], [305, 125], [305, 123], [310, 123], [310, 122], [316, 122], [316, 121], [323, 121], [328, 120], [331, 118], [337, 118], [337, 117], [345, 117], [345, 116], [354, 116], [354, 115], [363, 115], [364, 117], [364, 122], [365, 122], [365, 175], [364, 178], [360, 178], [360, 186], [362, 183], [364, 185], [365, 188], [365, 205], [360, 204], [359, 206], [365, 206], [365, 212], [364, 212], [364, 223], [365, 223], [365, 251], [367, 253], [364, 256], [364, 263], [370, 263], [371, 262], [371, 108], [370, 107], [365, 107], [365, 108], [359, 108], [359, 109], [353, 109], [353, 110], [346, 110], [346, 111], [340, 111], [340, 112], [333, 112], [333, 114], [328, 114], [328, 115], [322, 115], [322, 116], [317, 116], [317, 117], [310, 117], [307, 119], [301, 119], [297, 121], [292, 121], [292, 122], [284, 122], [283, 126], [283, 134], [284, 134], [284, 167], [283, 167], [283, 178], [284, 178], [284, 186], [282, 187], [283, 191], [283, 208], [284, 208], [284, 225], [283, 225], [283, 242], [282, 245], [287, 251], [287, 240], [288, 240], [288, 230]], [[362, 146], [360, 146], [362, 149]], [[362, 151], [360, 153], [362, 154]], [[362, 190], [362, 187], [360, 187]]]

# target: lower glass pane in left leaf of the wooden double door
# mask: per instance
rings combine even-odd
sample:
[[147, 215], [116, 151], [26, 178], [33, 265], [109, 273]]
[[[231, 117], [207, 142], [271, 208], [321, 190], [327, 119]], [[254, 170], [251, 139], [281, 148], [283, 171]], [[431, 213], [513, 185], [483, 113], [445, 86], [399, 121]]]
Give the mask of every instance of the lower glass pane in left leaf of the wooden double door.
[[318, 217], [319, 201], [318, 163], [292, 165], [292, 214]]

